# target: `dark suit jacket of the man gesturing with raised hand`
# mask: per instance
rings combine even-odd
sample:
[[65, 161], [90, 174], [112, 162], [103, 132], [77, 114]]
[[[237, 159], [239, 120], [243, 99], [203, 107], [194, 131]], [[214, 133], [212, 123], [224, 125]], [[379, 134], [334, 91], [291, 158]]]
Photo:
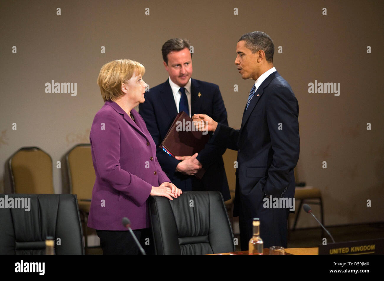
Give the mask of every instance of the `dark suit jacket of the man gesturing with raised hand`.
[[265, 194], [294, 197], [293, 169], [300, 150], [298, 115], [295, 94], [275, 71], [254, 94], [240, 130], [217, 126], [210, 142], [238, 151], [235, 217], [257, 217]]

